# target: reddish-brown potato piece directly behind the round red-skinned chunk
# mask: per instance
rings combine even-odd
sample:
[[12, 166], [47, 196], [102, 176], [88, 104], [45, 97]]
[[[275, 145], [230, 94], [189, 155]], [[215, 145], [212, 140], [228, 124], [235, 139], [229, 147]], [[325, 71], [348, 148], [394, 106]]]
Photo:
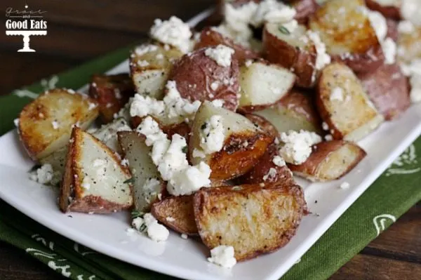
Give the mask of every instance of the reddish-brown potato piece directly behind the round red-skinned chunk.
[[229, 48], [234, 49], [234, 58], [239, 61], [239, 65], [242, 65], [246, 60], [259, 58], [259, 54], [255, 51], [241, 46], [240, 44], [234, 43], [232, 39], [223, 36], [219, 32], [213, 30], [211, 27], [206, 27], [203, 29], [201, 32], [200, 41], [194, 48], [206, 48], [209, 46], [218, 46], [220, 44], [229, 46]]

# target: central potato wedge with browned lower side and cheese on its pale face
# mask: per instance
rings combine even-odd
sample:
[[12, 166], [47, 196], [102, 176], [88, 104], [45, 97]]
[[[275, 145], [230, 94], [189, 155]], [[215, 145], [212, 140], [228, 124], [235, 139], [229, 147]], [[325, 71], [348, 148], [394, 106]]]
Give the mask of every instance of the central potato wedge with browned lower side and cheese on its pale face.
[[[224, 142], [219, 152], [204, 154], [201, 147], [201, 131], [206, 128], [211, 116], [221, 116]], [[215, 107], [211, 102], [203, 102], [196, 112], [189, 140], [189, 159], [193, 165], [204, 161], [210, 166], [211, 179], [229, 180], [248, 172], [265, 153], [267, 145], [273, 141], [269, 135], [257, 128], [245, 116], [228, 109]], [[203, 157], [197, 156], [201, 151]]]

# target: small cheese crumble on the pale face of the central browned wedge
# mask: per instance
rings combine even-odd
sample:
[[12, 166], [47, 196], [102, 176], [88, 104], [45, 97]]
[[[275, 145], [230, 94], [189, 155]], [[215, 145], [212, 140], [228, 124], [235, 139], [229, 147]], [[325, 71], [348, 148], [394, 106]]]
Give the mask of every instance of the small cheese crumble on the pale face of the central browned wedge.
[[212, 154], [222, 149], [225, 141], [224, 126], [222, 126], [222, 116], [213, 115], [201, 127], [200, 147], [205, 154]]

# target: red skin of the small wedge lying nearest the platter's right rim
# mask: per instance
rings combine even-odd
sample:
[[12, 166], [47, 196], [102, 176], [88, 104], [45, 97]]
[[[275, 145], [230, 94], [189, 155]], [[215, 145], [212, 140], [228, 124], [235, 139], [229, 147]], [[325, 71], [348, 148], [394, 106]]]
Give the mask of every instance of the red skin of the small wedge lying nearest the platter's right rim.
[[[288, 167], [293, 172], [314, 175], [317, 172], [317, 168], [319, 168], [320, 164], [329, 156], [330, 153], [335, 152], [337, 149], [340, 149], [340, 147], [343, 147], [346, 144], [354, 146], [356, 145], [345, 140], [319, 142], [313, 146], [312, 154], [310, 154], [309, 158], [304, 163], [298, 165], [288, 164]], [[349, 173], [349, 171], [352, 171], [352, 169], [366, 156], [366, 152], [361, 148], [359, 149], [359, 158], [357, 158], [350, 166], [348, 166], [347, 171], [343, 173], [342, 176]]]

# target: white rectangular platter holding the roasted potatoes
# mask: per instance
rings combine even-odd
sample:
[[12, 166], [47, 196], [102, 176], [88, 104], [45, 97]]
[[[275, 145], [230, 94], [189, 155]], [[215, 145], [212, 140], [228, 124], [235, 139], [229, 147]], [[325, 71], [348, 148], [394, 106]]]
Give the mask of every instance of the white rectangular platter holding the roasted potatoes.
[[[206, 13], [190, 23], [194, 25], [204, 16]], [[128, 72], [127, 61], [108, 74], [119, 72]], [[86, 91], [86, 87], [81, 91]], [[207, 262], [208, 250], [203, 244], [182, 239], [174, 232], [168, 241], [160, 244], [141, 234], [127, 234], [126, 229], [130, 226], [127, 213], [72, 213], [73, 218], [61, 213], [56, 190], [29, 180], [27, 171], [34, 163], [22, 149], [16, 131], [0, 138], [0, 197], [58, 234], [105, 255], [156, 272], [185, 279], [279, 279], [420, 133], [421, 103], [411, 106], [396, 121], [382, 124], [359, 142], [368, 155], [345, 178], [328, 183], [298, 179], [305, 189], [309, 210], [318, 215], [303, 218], [297, 234], [279, 251], [241, 262], [233, 269]], [[340, 189], [339, 185], [345, 181], [349, 182], [349, 189]]]

